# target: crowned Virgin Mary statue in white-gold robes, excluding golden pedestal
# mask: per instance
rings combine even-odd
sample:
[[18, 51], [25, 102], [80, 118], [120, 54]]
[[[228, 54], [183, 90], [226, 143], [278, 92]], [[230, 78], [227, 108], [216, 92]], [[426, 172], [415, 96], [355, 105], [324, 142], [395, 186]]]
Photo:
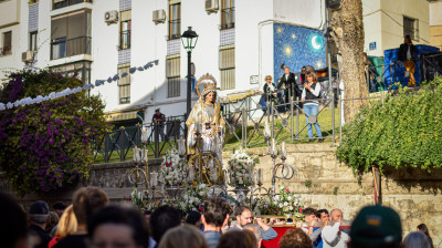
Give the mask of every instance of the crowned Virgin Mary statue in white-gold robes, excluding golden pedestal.
[[[204, 86], [201, 93], [199, 90], [200, 83]], [[197, 83], [197, 93], [200, 97], [186, 121], [188, 126], [188, 154], [214, 153], [221, 162], [225, 122], [221, 116], [214, 78], [209, 73], [202, 75]]]

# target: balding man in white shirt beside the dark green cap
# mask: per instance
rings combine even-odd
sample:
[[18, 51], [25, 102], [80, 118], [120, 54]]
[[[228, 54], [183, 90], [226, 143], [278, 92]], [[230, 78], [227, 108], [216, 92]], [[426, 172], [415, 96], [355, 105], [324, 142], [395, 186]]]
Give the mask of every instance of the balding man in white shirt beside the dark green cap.
[[343, 211], [339, 209], [333, 209], [330, 211], [330, 220], [334, 223], [333, 226], [324, 227], [322, 231], [323, 237], [323, 247], [336, 247], [336, 248], [346, 248], [347, 242], [350, 240], [350, 237], [339, 229], [340, 224], [343, 223]]

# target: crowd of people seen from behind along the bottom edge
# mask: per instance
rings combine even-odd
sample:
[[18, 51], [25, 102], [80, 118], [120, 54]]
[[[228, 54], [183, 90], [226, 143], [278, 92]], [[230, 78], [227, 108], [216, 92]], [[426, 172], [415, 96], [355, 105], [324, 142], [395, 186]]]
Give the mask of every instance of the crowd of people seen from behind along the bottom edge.
[[[53, 211], [43, 200], [25, 210], [3, 193], [0, 203], [1, 247], [6, 248], [260, 248], [263, 240], [278, 236], [250, 208], [233, 211], [221, 197], [208, 199], [201, 214], [187, 216], [170, 206], [140, 213], [131, 204], [109, 204], [107, 195], [92, 186], [76, 190], [67, 207], [54, 204]], [[280, 248], [433, 247], [424, 224], [402, 239], [400, 217], [389, 207], [364, 207], [349, 228], [340, 209], [305, 208], [303, 214], [307, 225], [296, 225], [278, 237]]]

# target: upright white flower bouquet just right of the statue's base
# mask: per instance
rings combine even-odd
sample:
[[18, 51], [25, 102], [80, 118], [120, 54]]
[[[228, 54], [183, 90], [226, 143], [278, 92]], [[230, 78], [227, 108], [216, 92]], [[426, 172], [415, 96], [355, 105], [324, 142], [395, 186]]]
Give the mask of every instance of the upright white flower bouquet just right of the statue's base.
[[253, 169], [255, 162], [244, 151], [236, 151], [229, 159], [229, 185], [248, 187], [254, 184]]

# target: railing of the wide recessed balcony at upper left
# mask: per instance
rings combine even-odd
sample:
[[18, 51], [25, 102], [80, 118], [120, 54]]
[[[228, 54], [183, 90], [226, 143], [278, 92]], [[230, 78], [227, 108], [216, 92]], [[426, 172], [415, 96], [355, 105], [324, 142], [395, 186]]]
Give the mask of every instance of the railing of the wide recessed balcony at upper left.
[[65, 38], [56, 39], [51, 42], [51, 60], [78, 54], [91, 54], [90, 37], [78, 37], [66, 40]]

